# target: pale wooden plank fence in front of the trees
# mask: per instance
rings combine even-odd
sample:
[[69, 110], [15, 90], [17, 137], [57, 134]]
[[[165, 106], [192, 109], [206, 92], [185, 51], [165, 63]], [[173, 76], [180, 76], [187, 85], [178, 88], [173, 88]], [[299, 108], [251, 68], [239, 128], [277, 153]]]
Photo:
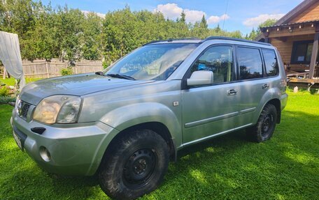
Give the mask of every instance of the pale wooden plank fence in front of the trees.
[[[61, 76], [61, 70], [68, 68], [68, 62], [62, 62], [59, 59], [52, 59], [50, 62], [45, 60], [22, 61], [24, 77], [30, 78], [50, 78]], [[87, 72], [97, 72], [103, 70], [101, 61], [79, 61], [71, 66], [73, 74]], [[4, 68], [0, 66], [0, 73], [3, 75]], [[3, 76], [4, 77], [4, 76]]]

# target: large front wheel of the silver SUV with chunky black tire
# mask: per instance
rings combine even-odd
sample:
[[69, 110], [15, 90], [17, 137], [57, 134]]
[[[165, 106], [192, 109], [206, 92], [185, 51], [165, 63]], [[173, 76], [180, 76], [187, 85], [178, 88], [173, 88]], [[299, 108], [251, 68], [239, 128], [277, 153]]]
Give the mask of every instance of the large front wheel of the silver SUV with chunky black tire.
[[136, 199], [155, 190], [169, 165], [169, 148], [152, 130], [129, 132], [111, 144], [99, 171], [101, 189], [114, 199]]

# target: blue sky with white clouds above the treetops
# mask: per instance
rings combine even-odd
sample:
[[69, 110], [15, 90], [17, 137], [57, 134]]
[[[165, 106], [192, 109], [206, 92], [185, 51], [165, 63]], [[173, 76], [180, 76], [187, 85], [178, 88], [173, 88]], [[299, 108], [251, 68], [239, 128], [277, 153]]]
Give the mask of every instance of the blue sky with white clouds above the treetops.
[[[48, 0], [43, 0], [47, 4]], [[107, 13], [118, 10], [128, 5], [132, 10], [160, 11], [170, 19], [176, 19], [184, 10], [186, 20], [195, 22], [205, 15], [210, 27], [217, 24], [222, 26], [225, 19], [224, 29], [227, 31], [239, 30], [243, 34], [249, 33], [253, 27], [268, 18], [280, 18], [295, 8], [302, 0], [228, 0], [227, 13], [225, 15], [227, 0], [197, 0], [197, 1], [110, 1], [110, 0], [57, 0], [51, 1], [53, 7], [68, 5], [69, 8]]]

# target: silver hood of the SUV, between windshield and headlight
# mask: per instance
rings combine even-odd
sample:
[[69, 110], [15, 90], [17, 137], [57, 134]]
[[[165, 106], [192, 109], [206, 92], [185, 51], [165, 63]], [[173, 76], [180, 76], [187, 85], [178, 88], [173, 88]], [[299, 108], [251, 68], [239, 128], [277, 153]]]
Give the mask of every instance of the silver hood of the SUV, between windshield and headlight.
[[126, 86], [146, 84], [150, 80], [128, 80], [90, 74], [55, 77], [32, 82], [24, 86], [20, 93], [21, 100], [37, 105], [50, 95], [86, 95], [99, 91], [118, 89]]

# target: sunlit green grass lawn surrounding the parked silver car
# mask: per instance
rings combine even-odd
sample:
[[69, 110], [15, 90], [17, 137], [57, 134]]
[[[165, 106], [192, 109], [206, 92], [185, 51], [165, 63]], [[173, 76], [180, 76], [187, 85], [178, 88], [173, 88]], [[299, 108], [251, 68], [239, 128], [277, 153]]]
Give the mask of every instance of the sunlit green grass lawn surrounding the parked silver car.
[[[256, 144], [241, 131], [187, 148], [141, 199], [318, 199], [319, 95], [289, 95], [271, 140]], [[97, 178], [48, 174], [20, 151], [12, 109], [0, 105], [0, 199], [108, 199]]]

